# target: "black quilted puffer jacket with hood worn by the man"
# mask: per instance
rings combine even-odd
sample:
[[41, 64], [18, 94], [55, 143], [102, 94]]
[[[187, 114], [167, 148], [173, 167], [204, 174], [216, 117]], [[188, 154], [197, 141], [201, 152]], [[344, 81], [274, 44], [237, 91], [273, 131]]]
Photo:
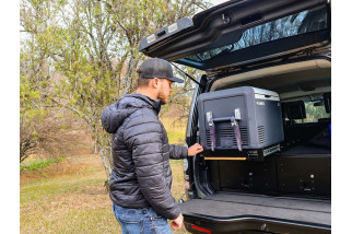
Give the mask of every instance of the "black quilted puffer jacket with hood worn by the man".
[[160, 107], [161, 101], [130, 94], [104, 109], [102, 124], [114, 133], [110, 198], [126, 208], [152, 206], [174, 220], [180, 210], [171, 194], [168, 160], [187, 157], [187, 148], [168, 144]]

